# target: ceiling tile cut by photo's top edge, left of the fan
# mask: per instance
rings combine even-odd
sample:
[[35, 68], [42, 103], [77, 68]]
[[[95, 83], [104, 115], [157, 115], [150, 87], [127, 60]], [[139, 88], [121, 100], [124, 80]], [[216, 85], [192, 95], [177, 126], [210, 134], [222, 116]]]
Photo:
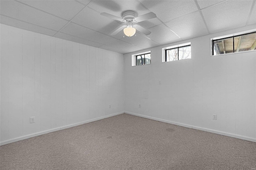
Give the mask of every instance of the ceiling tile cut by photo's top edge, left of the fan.
[[19, 0], [19, 1], [66, 20], [71, 20], [80, 10], [84, 8], [84, 5], [74, 0]]

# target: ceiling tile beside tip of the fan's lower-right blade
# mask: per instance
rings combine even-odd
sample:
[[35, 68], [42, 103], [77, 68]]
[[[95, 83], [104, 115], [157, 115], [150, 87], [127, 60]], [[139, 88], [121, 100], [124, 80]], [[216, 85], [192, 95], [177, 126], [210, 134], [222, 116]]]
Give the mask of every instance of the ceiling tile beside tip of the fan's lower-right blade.
[[182, 40], [164, 24], [157, 25], [155, 27], [149, 28], [148, 30], [151, 31], [151, 34], [147, 35], [147, 37], [161, 45]]

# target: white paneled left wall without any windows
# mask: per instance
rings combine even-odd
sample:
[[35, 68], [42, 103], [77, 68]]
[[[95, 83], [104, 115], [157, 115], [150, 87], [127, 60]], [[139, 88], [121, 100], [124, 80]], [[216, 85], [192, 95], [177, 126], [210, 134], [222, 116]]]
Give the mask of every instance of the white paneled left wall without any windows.
[[122, 54], [0, 26], [1, 144], [124, 112]]

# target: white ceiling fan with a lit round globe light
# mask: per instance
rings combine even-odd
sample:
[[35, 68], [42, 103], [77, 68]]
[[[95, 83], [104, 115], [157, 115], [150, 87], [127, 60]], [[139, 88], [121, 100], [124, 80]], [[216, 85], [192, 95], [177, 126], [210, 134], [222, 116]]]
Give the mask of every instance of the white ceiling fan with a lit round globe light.
[[140, 25], [137, 25], [137, 24], [134, 25], [134, 23], [138, 23], [138, 22], [141, 22], [141, 21], [156, 18], [156, 14], [154, 14], [153, 12], [149, 12], [147, 14], [144, 14], [142, 16], [137, 17], [136, 13], [134, 11], [131, 11], [131, 10], [123, 12], [122, 18], [119, 18], [117, 16], [113, 16], [113, 15], [108, 14], [106, 12], [102, 12], [102, 13], [100, 13], [100, 15], [106, 16], [106, 17], [111, 18], [113, 20], [118, 20], [118, 21], [121, 21], [121, 22], [125, 22], [126, 25], [122, 25], [121, 27], [116, 29], [114, 32], [112, 32], [110, 35], [116, 35], [120, 31], [122, 31], [122, 29], [123, 29], [124, 34], [128, 37], [132, 37], [136, 33], [136, 30], [140, 31], [141, 33], [143, 33], [145, 35], [149, 35], [151, 33], [150, 31], [148, 31], [147, 29], [145, 29], [144, 27], [142, 27]]

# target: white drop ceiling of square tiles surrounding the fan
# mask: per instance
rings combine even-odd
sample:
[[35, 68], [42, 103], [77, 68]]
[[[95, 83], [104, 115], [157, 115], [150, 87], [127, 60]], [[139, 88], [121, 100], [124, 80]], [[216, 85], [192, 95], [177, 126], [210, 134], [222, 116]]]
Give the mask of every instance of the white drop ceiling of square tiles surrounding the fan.
[[[122, 18], [154, 12], [139, 25], [152, 33], [126, 37]], [[256, 23], [255, 0], [1, 0], [0, 23], [118, 53], [130, 53]]]

